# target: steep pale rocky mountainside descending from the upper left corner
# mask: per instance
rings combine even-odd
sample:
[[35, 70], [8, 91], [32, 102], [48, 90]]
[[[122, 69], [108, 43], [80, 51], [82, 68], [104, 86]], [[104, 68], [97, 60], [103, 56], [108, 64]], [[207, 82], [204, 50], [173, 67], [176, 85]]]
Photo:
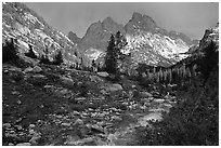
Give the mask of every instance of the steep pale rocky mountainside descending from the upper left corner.
[[36, 12], [24, 3], [2, 3], [2, 42], [13, 38], [20, 46], [20, 52], [27, 53], [29, 45], [34, 52], [41, 56], [44, 49], [49, 49], [49, 58], [62, 51], [64, 63], [75, 64], [78, 57], [76, 44], [64, 33], [53, 29]]

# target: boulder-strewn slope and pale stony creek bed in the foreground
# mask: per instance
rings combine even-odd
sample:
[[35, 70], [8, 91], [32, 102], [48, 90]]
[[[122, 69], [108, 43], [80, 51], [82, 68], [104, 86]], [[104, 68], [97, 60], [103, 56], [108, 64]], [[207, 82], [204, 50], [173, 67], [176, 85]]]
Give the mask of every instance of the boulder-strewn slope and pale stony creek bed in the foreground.
[[106, 77], [56, 66], [3, 65], [3, 145], [133, 145], [136, 129], [152, 127], [148, 121], [162, 120], [161, 113], [176, 105], [174, 96]]

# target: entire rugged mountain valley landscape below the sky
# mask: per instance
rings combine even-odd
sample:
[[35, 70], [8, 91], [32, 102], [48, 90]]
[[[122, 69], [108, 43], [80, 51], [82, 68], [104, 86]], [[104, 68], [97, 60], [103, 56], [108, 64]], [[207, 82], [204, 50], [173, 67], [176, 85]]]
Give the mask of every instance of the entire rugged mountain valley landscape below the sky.
[[196, 42], [134, 12], [79, 38], [2, 3], [2, 145], [218, 146], [219, 23]]

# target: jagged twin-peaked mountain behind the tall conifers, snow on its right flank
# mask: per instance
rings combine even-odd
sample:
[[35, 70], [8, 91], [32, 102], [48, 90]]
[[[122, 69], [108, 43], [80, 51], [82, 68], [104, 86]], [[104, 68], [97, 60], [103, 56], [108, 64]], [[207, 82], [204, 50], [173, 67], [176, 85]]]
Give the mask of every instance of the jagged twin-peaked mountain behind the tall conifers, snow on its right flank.
[[182, 32], [170, 31], [157, 26], [155, 21], [134, 12], [132, 18], [125, 25], [117, 24], [110, 17], [102, 23], [92, 24], [82, 40], [78, 43], [81, 51], [98, 50], [105, 52], [110, 33], [120, 31], [126, 36], [127, 53], [131, 52], [134, 63], [152, 66], [170, 66], [187, 55], [195, 42]]

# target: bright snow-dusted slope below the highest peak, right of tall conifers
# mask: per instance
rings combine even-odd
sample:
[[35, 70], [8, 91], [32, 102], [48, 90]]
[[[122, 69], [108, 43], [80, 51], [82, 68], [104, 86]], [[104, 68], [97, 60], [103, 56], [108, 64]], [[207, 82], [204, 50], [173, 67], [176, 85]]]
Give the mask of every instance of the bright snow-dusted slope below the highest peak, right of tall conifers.
[[[128, 42], [128, 51], [140, 52], [141, 49], [144, 50], [144, 52], [150, 51], [150, 55], [147, 55], [145, 58], [153, 60], [148, 62], [152, 64], [160, 63], [160, 60], [157, 60], [157, 56], [151, 56], [153, 52], [155, 55], [158, 54], [164, 58], [173, 58], [178, 62], [186, 57], [186, 55], [181, 55], [181, 53], [185, 53], [190, 49], [190, 45], [187, 45], [181, 39], [171, 39], [168, 36], [141, 30], [136, 30], [135, 35], [126, 35], [126, 39]], [[146, 60], [145, 58], [144, 60]]]

